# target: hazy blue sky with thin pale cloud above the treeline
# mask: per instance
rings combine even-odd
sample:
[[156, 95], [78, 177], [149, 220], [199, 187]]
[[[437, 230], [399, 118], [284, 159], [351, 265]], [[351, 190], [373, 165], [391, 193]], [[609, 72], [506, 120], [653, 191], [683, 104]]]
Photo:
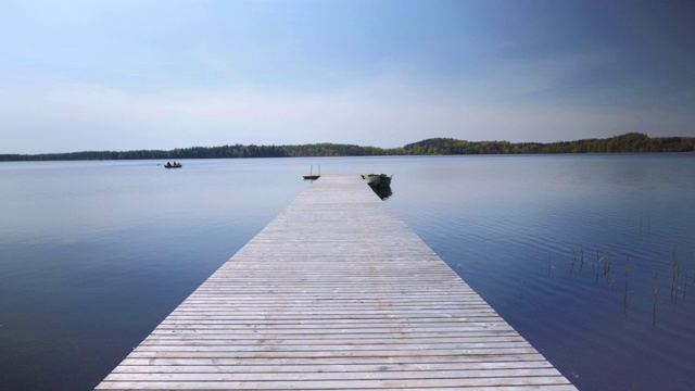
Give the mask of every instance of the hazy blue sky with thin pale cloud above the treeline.
[[0, 153], [695, 136], [695, 1], [0, 0]]

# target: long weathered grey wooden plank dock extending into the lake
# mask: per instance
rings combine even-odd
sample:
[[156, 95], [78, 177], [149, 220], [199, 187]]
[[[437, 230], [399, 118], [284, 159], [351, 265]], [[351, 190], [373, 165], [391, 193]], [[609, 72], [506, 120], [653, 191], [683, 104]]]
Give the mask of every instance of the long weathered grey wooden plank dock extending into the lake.
[[359, 175], [321, 175], [98, 390], [576, 390]]

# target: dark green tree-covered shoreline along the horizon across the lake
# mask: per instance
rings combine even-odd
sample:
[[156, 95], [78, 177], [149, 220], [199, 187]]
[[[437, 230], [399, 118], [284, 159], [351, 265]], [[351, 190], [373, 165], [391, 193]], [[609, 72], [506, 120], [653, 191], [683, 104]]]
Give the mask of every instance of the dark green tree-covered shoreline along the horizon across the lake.
[[181, 160], [225, 157], [459, 155], [459, 154], [543, 154], [543, 153], [626, 153], [695, 152], [695, 137], [648, 137], [630, 133], [606, 139], [584, 139], [551, 143], [509, 141], [466, 141], [431, 138], [401, 148], [361, 147], [341, 143], [302, 146], [222, 146], [177, 148], [170, 151], [85, 151], [41, 154], [0, 154], [0, 162], [67, 160]]

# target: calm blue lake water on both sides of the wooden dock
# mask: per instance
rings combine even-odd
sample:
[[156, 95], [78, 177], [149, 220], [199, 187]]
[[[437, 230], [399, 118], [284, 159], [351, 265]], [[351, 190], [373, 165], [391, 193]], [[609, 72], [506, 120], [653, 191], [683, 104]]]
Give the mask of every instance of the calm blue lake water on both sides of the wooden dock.
[[323, 172], [384, 202], [580, 389], [695, 389], [695, 155], [0, 164], [0, 389], [94, 387]]

